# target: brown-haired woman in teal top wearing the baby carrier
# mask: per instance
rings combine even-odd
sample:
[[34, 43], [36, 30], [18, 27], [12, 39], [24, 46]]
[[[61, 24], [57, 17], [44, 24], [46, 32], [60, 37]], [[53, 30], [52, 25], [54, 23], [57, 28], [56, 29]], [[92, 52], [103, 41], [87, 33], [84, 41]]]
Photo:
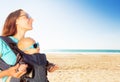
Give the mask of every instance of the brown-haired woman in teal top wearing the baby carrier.
[[[5, 21], [2, 36], [11, 38], [14, 42], [18, 42], [20, 39], [25, 37], [25, 33], [32, 30], [33, 19], [22, 9], [16, 10], [10, 13]], [[9, 65], [15, 65], [16, 55], [10, 49], [10, 47], [0, 38], [0, 57]], [[10, 67], [5, 71], [0, 72], [0, 78], [3, 78], [2, 82], [6, 82], [7, 77], [12, 76], [20, 78], [26, 73], [27, 65], [23, 64], [23, 71], [17, 71], [19, 64]]]

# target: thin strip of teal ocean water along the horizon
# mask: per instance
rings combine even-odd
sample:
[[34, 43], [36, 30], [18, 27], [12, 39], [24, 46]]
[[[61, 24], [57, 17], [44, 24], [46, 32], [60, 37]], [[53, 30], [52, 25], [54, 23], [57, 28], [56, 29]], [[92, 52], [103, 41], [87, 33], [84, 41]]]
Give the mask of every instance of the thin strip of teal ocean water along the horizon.
[[70, 53], [70, 54], [120, 54], [120, 50], [110, 49], [49, 49], [45, 53]]

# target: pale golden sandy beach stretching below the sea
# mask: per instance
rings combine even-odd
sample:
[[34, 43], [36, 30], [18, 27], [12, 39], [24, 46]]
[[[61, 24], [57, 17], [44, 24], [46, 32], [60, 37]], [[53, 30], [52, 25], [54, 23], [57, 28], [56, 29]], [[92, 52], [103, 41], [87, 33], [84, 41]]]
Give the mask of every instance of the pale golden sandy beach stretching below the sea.
[[50, 82], [120, 82], [120, 54], [47, 54], [59, 70]]

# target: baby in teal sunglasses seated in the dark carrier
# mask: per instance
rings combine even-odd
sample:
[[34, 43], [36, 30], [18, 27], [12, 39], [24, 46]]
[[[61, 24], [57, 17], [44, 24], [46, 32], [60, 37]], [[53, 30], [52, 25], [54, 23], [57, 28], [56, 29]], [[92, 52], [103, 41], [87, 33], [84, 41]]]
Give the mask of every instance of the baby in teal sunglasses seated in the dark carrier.
[[[30, 37], [26, 37], [26, 38], [19, 40], [17, 46], [21, 51], [23, 51], [24, 53], [28, 55], [34, 55], [35, 53], [40, 53], [39, 43], [36, 43], [35, 40]], [[48, 62], [47, 71], [53, 72], [57, 70], [58, 68], [59, 68], [58, 65]], [[18, 71], [21, 71], [22, 69], [23, 68], [19, 66]], [[9, 77], [6, 82], [9, 82], [10, 78], [11, 77]]]

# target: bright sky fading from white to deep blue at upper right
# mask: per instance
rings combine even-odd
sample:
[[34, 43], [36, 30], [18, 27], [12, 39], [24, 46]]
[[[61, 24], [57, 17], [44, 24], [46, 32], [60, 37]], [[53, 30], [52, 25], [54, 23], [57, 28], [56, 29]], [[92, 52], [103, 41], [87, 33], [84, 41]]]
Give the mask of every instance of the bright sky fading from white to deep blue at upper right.
[[1, 0], [0, 30], [23, 9], [34, 19], [26, 36], [46, 49], [120, 49], [119, 0]]

